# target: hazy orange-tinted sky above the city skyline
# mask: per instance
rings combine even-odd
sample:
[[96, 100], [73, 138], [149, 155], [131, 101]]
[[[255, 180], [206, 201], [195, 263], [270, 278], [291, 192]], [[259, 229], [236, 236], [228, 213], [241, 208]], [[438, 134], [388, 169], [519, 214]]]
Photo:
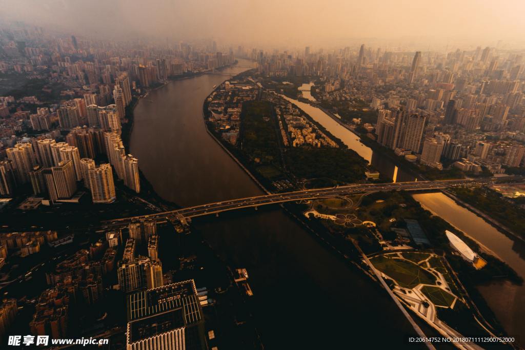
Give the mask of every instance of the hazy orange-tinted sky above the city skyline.
[[0, 0], [0, 8], [3, 19], [77, 34], [214, 38], [219, 44], [525, 41], [525, 0]]

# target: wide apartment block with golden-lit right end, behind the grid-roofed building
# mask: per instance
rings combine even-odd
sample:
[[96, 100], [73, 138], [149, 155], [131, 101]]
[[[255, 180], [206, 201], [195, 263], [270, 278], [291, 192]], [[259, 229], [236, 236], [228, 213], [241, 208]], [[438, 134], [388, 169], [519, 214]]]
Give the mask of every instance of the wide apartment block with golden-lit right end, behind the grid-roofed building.
[[151, 289], [162, 286], [162, 264], [140, 257], [132, 262], [122, 262], [117, 270], [120, 289], [129, 293], [139, 289]]

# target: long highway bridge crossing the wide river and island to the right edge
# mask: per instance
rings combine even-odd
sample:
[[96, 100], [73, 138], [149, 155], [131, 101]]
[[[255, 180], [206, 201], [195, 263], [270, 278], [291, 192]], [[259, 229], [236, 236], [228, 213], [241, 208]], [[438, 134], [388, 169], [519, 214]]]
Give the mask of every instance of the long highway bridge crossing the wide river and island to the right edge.
[[119, 227], [128, 225], [129, 222], [135, 220], [181, 220], [185, 221], [187, 218], [204, 216], [210, 214], [218, 214], [223, 211], [259, 207], [268, 204], [285, 203], [288, 201], [300, 201], [300, 200], [311, 200], [318, 198], [331, 198], [337, 196], [376, 192], [376, 191], [390, 191], [390, 190], [405, 190], [405, 191], [418, 191], [418, 190], [441, 190], [447, 187], [454, 186], [480, 186], [490, 185], [501, 182], [521, 182], [523, 177], [521, 176], [505, 176], [505, 177], [489, 177], [489, 178], [478, 178], [478, 179], [458, 179], [458, 180], [445, 180], [445, 181], [415, 181], [415, 182], [399, 182], [399, 183], [386, 183], [386, 184], [352, 184], [337, 187], [328, 188], [316, 188], [316, 189], [305, 189], [294, 192], [268, 194], [247, 198], [238, 198], [219, 201], [216, 203], [208, 203], [203, 205], [197, 205], [188, 208], [182, 208], [172, 211], [164, 211], [162, 213], [155, 213], [142, 216], [126, 217], [119, 219], [112, 219], [102, 221], [102, 225], [106, 227]]

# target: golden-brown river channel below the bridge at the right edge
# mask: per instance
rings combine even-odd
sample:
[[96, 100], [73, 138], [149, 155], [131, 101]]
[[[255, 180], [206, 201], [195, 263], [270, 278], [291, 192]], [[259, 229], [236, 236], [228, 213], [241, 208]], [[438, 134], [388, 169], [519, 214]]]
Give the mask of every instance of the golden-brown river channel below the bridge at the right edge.
[[[451, 225], [491, 250], [497, 257], [509, 264], [525, 279], [525, 242], [503, 234], [470, 210], [459, 206], [443, 193], [416, 194], [414, 199], [442, 217]], [[525, 286], [510, 282], [493, 282], [481, 285], [478, 290], [496, 314], [507, 333], [525, 340]]]

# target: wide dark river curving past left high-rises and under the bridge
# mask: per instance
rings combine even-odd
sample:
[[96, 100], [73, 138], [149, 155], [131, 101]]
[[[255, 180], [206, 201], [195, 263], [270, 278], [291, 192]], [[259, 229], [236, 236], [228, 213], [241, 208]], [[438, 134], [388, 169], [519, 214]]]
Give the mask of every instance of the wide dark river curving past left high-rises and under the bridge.
[[[130, 151], [163, 198], [191, 206], [262, 194], [207, 134], [202, 116], [214, 85], [252, 67], [239, 61], [222, 72], [172, 81], [137, 104]], [[230, 266], [248, 269], [254, 320], [267, 349], [342, 348], [371, 339], [376, 348], [403, 348], [415, 334], [375, 282], [280, 207], [193, 225]]]

